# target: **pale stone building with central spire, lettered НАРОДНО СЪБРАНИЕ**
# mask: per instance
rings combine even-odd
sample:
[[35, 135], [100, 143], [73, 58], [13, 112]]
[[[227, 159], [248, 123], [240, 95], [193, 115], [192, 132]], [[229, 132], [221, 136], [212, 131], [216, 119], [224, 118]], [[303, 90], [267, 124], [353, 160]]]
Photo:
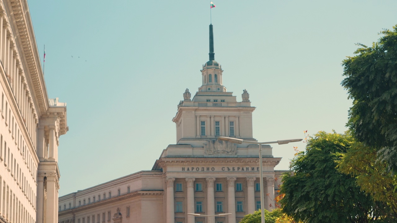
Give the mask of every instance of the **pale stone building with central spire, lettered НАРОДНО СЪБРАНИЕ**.
[[[141, 171], [59, 198], [60, 223], [236, 223], [260, 208], [258, 145], [217, 140], [230, 136], [256, 141], [247, 90], [237, 101], [227, 92], [222, 66], [214, 58], [210, 25], [209, 60], [195, 95], [188, 89], [177, 106], [176, 144], [169, 145], [152, 170]], [[262, 146], [266, 208], [274, 208], [281, 158]]]

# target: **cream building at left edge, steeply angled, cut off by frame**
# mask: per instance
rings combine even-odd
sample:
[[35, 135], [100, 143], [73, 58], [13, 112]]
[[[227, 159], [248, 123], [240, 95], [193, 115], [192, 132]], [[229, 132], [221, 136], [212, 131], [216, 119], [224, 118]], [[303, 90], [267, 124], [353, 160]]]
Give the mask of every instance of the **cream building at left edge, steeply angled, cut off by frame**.
[[0, 223], [58, 222], [66, 103], [48, 98], [26, 0], [0, 0]]

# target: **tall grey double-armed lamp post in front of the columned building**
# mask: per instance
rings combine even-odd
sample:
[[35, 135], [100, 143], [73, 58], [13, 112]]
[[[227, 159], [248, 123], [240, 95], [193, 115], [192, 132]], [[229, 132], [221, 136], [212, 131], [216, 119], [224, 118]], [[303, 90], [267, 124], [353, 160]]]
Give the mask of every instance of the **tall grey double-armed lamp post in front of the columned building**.
[[249, 143], [249, 144], [258, 144], [259, 145], [259, 174], [260, 174], [260, 218], [261, 218], [261, 223], [265, 223], [265, 215], [264, 215], [264, 195], [263, 195], [263, 169], [262, 169], [262, 145], [263, 144], [273, 144], [277, 143], [279, 145], [281, 144], [288, 144], [290, 142], [299, 142], [302, 141], [301, 138], [297, 139], [287, 139], [287, 140], [277, 140], [273, 142], [253, 142], [253, 141], [247, 141], [239, 138], [230, 138], [230, 137], [218, 137], [218, 140], [223, 140], [223, 141], [228, 141], [231, 143], [237, 143], [237, 144], [242, 144], [242, 143]]

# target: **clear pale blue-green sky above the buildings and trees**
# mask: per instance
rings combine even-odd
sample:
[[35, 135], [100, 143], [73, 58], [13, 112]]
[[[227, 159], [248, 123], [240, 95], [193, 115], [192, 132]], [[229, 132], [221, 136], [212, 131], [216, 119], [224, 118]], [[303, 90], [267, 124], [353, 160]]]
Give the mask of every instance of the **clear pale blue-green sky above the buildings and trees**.
[[[343, 133], [342, 61], [397, 24], [395, 0], [213, 0], [223, 85], [250, 94], [258, 141]], [[28, 0], [48, 96], [67, 103], [60, 196], [141, 170], [176, 143], [183, 92], [201, 86], [210, 1]], [[43, 63], [42, 63], [43, 66]], [[304, 143], [272, 145], [288, 169]]]

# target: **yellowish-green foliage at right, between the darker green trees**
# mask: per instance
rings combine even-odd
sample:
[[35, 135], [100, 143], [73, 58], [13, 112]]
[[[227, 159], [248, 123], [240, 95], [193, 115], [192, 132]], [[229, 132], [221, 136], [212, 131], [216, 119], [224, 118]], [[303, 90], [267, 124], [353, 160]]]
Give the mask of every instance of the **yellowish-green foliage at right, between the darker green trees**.
[[355, 143], [343, 154], [338, 164], [341, 173], [352, 175], [356, 178], [358, 186], [375, 201], [384, 202], [385, 208], [381, 210], [385, 219], [396, 219], [397, 222], [397, 177], [386, 173], [385, 162], [376, 161], [376, 150]]

